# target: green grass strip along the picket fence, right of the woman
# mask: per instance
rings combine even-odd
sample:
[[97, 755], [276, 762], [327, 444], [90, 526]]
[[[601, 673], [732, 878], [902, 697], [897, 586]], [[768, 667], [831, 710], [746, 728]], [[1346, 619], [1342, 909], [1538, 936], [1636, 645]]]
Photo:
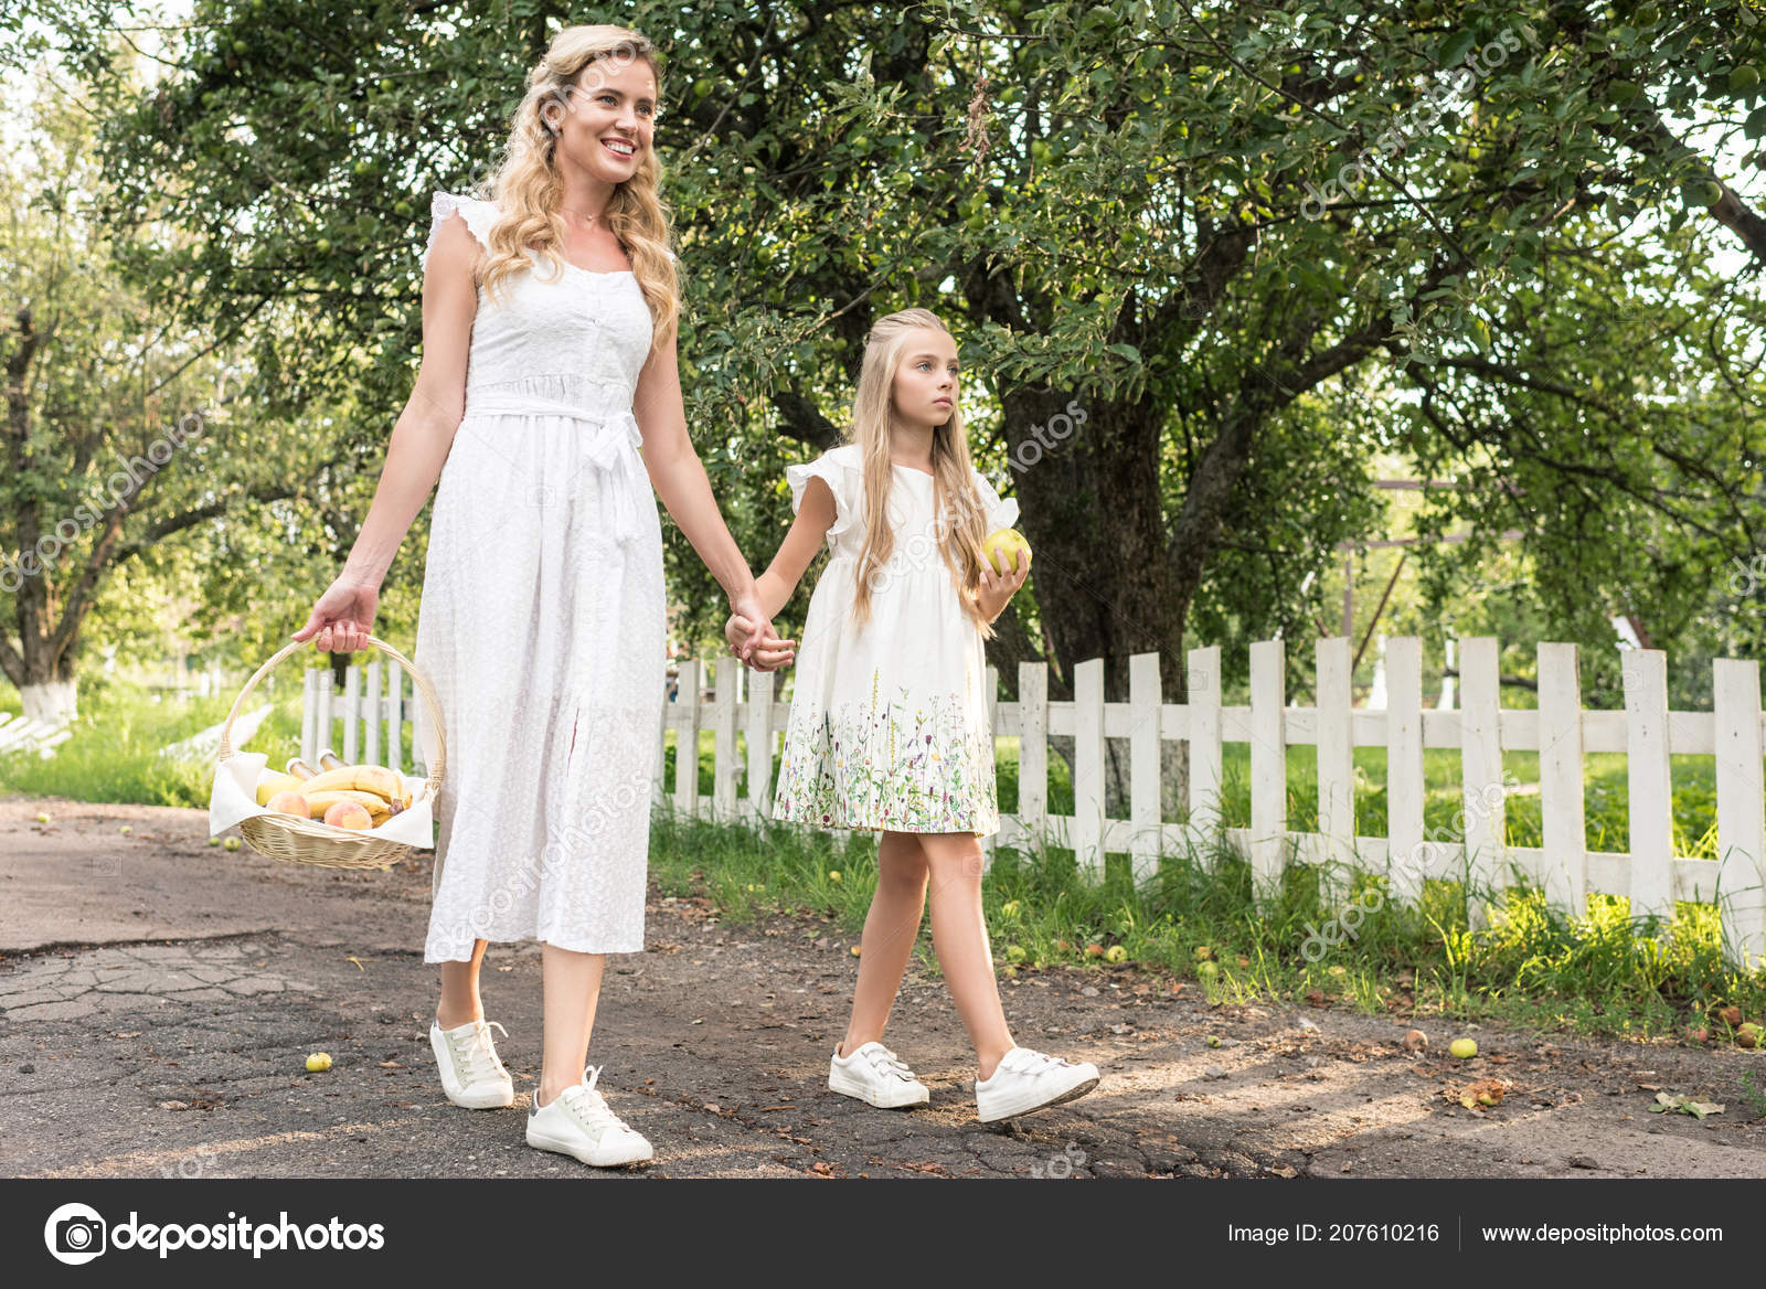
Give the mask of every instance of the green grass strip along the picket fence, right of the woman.
[[[876, 886], [876, 840], [853, 833], [842, 848], [832, 833], [712, 825], [664, 807], [652, 826], [650, 869], [666, 893], [705, 895], [728, 922], [809, 915], [805, 936], [826, 934], [832, 923], [858, 943]], [[1369, 1015], [1399, 1010], [1634, 1038], [1704, 1024], [1717, 1005], [1734, 1003], [1747, 1019], [1766, 1015], [1766, 969], [1741, 975], [1724, 964], [1709, 906], [1681, 904], [1672, 923], [1649, 936], [1639, 934], [1648, 927], [1634, 925], [1623, 899], [1595, 895], [1586, 916], [1570, 918], [1517, 886], [1499, 897], [1492, 925], [1473, 931], [1459, 883], [1429, 881], [1415, 908], [1397, 908], [1374, 897], [1381, 879], [1342, 879], [1374, 911], [1317, 961], [1307, 961], [1305, 945], [1332, 918], [1319, 872], [1289, 865], [1279, 890], [1257, 901], [1249, 865], [1220, 846], [1167, 855], [1139, 886], [1127, 856], [1109, 856], [1093, 883], [1070, 851], [1000, 848], [984, 904], [994, 957], [1008, 973], [1012, 962], [1104, 971], [1086, 945], [1121, 945], [1128, 964], [1185, 978], [1217, 1003], [1317, 991]], [[915, 952], [936, 973], [929, 922]], [[1215, 964], [1208, 980], [1204, 952]], [[1729, 1038], [1720, 1021], [1709, 1024], [1720, 1042]]]

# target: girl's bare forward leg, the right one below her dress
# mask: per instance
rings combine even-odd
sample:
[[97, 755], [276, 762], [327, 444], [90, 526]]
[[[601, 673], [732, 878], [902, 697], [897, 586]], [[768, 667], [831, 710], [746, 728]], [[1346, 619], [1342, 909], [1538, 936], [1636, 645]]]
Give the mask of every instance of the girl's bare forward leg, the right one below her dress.
[[920, 833], [920, 849], [931, 867], [938, 966], [975, 1044], [980, 1077], [991, 1079], [1000, 1058], [1015, 1044], [1000, 1006], [1000, 982], [982, 916], [982, 839], [971, 832]]

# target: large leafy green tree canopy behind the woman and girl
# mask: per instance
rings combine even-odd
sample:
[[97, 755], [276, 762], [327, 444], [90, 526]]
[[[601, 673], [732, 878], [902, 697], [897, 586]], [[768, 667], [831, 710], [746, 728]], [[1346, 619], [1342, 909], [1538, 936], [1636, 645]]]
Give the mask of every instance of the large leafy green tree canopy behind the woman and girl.
[[[35, 9], [104, 92], [118, 267], [150, 309], [238, 325], [268, 470], [323, 463], [286, 505], [230, 507], [203, 558], [205, 597], [270, 623], [261, 653], [353, 540], [410, 396], [427, 198], [489, 170], [576, 14], [203, 0], [143, 92], [102, 5]], [[1732, 231], [1683, 201], [1709, 159], [1657, 124], [1757, 139], [1766, 35], [1644, 9], [634, 5], [666, 53], [687, 422], [738, 544], [765, 563], [782, 468], [839, 433], [869, 321], [922, 304], [959, 332], [994, 477], [1045, 406], [1091, 411], [1012, 480], [1033, 544], [1104, 553], [1040, 562], [1023, 595], [1053, 630], [1010, 648], [1058, 687], [1081, 657], [1178, 671], [1187, 632], [1337, 622], [1339, 544], [1381, 535], [1386, 463], [1453, 482], [1418, 535], [1469, 535], [1415, 547], [1427, 630], [1494, 614], [1536, 627], [1505, 639], [1582, 641], [1593, 699], [1618, 692], [1614, 613], [1676, 659], [1755, 648], [1766, 597], [1724, 583], [1757, 546], [1766, 320], [1715, 267]], [[143, 219], [177, 233], [127, 235]], [[713, 637], [721, 592], [678, 533], [668, 569]], [[1491, 569], [1515, 574], [1499, 597]]]

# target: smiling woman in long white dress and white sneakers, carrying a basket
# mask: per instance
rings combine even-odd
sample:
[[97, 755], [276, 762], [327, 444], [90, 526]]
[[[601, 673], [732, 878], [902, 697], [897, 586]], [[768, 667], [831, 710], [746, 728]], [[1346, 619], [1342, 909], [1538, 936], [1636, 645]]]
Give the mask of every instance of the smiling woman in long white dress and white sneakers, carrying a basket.
[[662, 528], [639, 471], [758, 623], [743, 655], [772, 637], [687, 438], [657, 101], [643, 35], [569, 26], [528, 74], [496, 177], [434, 196], [417, 387], [343, 576], [295, 634], [366, 646], [440, 477], [415, 655], [447, 735], [429, 1040], [456, 1105], [510, 1105], [479, 966], [487, 941], [542, 941], [526, 1139], [595, 1165], [652, 1155], [585, 1067], [604, 955], [643, 950], [666, 643]]

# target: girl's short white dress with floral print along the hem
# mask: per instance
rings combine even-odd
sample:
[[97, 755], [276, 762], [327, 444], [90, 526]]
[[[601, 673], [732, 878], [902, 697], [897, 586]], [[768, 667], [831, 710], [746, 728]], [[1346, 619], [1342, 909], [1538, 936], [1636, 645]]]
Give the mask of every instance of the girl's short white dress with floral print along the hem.
[[[825, 828], [892, 832], [1000, 830], [987, 662], [938, 547], [932, 477], [894, 466], [894, 554], [853, 622], [855, 569], [865, 540], [864, 470], [846, 443], [786, 466], [791, 509], [811, 477], [834, 493], [830, 558], [809, 600], [793, 676], [774, 818]], [[975, 471], [987, 531], [1017, 523]]]

